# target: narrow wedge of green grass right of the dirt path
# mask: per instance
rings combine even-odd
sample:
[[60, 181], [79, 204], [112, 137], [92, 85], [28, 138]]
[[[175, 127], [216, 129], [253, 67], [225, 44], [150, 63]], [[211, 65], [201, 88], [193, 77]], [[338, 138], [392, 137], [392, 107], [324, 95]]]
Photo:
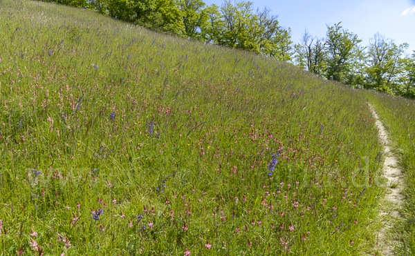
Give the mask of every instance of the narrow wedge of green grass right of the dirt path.
[[381, 93], [368, 95], [391, 134], [394, 153], [405, 176], [402, 223], [396, 226], [399, 255], [415, 255], [415, 101]]

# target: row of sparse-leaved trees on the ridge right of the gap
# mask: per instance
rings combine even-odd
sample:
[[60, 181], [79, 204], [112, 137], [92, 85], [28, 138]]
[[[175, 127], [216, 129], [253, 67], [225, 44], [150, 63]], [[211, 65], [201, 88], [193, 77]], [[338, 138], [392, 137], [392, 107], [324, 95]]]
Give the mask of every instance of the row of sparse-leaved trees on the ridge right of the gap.
[[353, 88], [414, 99], [415, 54], [403, 57], [407, 43], [398, 46], [376, 34], [363, 48], [357, 35], [342, 29], [340, 23], [327, 29], [326, 39], [305, 32], [302, 42], [295, 44], [297, 66]]

